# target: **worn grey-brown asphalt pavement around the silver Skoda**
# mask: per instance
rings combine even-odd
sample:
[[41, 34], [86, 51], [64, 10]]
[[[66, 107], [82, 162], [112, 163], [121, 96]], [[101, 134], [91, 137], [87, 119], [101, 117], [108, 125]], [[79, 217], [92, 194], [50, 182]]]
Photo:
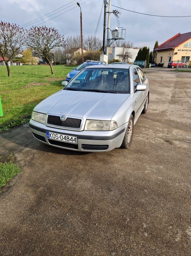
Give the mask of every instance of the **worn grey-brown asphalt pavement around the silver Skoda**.
[[28, 123], [0, 134], [22, 168], [0, 195], [0, 255], [191, 255], [191, 73], [146, 72], [129, 149], [54, 148]]

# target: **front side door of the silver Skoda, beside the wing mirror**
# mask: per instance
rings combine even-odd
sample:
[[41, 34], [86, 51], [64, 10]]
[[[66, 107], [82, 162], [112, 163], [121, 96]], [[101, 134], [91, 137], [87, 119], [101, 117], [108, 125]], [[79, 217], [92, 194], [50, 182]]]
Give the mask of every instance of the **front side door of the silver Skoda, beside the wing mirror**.
[[[141, 84], [146, 85], [148, 87], [148, 80], [146, 79], [144, 72], [139, 67], [137, 67], [136, 69], [137, 69], [137, 73], [139, 75]], [[147, 97], [147, 90], [136, 92], [136, 94], [137, 94], [137, 109], [136, 109], [137, 113], [136, 114], [139, 116], [142, 112], [142, 108], [144, 106], [144, 103]]]

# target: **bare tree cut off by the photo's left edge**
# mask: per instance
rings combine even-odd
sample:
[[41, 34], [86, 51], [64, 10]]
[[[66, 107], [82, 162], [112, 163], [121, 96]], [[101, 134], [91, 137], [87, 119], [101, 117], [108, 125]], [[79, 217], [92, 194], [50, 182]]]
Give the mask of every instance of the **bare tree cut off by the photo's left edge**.
[[[8, 77], [11, 75], [8, 61], [24, 44], [24, 32], [25, 29], [16, 24], [10, 24], [3, 21], [0, 23], [0, 56], [3, 58], [7, 67]], [[5, 57], [7, 57], [8, 60]]]

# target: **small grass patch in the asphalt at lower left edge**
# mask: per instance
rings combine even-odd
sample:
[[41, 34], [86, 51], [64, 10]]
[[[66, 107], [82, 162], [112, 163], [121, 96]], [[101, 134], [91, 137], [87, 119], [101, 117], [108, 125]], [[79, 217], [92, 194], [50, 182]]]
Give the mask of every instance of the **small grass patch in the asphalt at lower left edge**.
[[21, 172], [21, 169], [14, 164], [14, 156], [9, 156], [8, 162], [0, 162], [0, 193], [1, 188]]

